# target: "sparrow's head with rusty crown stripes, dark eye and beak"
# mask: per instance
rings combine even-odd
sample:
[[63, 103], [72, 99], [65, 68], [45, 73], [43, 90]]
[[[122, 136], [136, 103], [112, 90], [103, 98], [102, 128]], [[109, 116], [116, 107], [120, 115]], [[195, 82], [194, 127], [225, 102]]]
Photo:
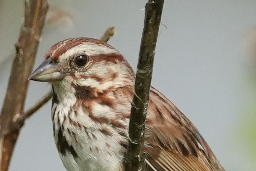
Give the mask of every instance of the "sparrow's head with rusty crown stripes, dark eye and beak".
[[71, 38], [53, 45], [30, 79], [51, 82], [57, 94], [78, 89], [104, 92], [132, 85], [134, 73], [119, 51], [107, 43]]

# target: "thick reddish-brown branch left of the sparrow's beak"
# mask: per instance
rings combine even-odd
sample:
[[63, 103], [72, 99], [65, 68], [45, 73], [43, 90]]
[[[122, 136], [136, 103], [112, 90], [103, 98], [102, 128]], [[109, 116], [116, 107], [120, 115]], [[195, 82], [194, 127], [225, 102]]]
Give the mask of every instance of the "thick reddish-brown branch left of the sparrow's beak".
[[24, 24], [15, 44], [16, 56], [0, 115], [0, 171], [8, 170], [17, 137], [23, 126], [23, 122], [16, 124], [13, 119], [23, 113], [28, 77], [34, 64], [47, 10], [47, 0], [30, 0], [29, 3], [25, 1]]

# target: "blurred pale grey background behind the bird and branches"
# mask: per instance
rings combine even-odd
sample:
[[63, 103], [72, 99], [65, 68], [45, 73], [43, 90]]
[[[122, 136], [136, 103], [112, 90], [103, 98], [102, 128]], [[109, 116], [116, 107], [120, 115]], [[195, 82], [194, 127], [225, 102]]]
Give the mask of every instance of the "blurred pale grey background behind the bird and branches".
[[[135, 69], [146, 0], [49, 0], [35, 67], [56, 42], [109, 41]], [[227, 171], [256, 171], [256, 1], [165, 0], [152, 86], [199, 129]], [[23, 23], [24, 0], [0, 1], [0, 105]], [[35, 68], [34, 67], [34, 68]], [[26, 108], [51, 87], [31, 82]], [[65, 171], [52, 133], [51, 103], [21, 131], [10, 171]]]

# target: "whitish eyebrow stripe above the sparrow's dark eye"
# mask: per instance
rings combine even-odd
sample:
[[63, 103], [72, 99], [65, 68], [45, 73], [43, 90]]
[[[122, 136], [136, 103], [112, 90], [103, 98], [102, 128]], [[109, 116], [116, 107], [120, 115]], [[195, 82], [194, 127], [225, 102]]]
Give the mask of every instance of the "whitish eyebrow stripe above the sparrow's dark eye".
[[88, 56], [111, 53], [120, 54], [119, 51], [117, 51], [116, 49], [105, 46], [104, 44], [95, 42], [82, 42], [81, 44], [74, 46], [71, 49], [67, 50], [65, 53], [61, 54], [59, 59], [60, 61], [64, 61], [70, 58], [70, 56], [79, 53], [85, 53]]

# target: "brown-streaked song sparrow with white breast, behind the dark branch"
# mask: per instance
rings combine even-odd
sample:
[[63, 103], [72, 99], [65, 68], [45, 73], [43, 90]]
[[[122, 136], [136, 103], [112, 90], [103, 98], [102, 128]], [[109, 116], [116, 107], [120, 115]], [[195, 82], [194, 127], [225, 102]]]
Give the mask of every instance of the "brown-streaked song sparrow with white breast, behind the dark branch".
[[[112, 46], [71, 38], [51, 47], [31, 80], [51, 82], [53, 132], [68, 171], [122, 171], [135, 74]], [[151, 87], [145, 160], [153, 171], [224, 171], [195, 126]]]

